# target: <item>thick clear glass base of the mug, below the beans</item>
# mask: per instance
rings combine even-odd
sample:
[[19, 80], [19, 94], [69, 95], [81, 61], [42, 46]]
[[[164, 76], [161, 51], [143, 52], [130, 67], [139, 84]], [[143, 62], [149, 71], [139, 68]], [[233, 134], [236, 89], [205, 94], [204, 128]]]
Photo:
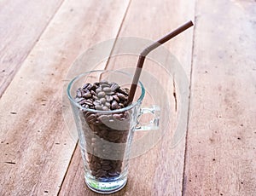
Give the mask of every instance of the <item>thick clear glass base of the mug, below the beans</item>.
[[95, 179], [90, 179], [89, 177], [85, 176], [85, 183], [87, 187], [90, 188], [90, 190], [96, 192], [96, 193], [115, 193], [118, 192], [120, 189], [125, 187], [127, 182], [127, 176], [123, 178], [119, 178], [117, 180], [112, 181], [100, 181]]

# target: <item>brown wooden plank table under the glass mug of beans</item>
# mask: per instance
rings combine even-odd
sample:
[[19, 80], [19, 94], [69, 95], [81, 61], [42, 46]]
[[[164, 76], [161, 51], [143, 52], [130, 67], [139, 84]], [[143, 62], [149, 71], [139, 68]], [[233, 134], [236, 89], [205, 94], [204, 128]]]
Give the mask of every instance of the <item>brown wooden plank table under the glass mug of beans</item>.
[[114, 195], [256, 195], [253, 0], [1, 1], [0, 195], [96, 195], [62, 118], [69, 66], [96, 43], [187, 20], [194, 30], [165, 44], [189, 78], [186, 135], [132, 159]]

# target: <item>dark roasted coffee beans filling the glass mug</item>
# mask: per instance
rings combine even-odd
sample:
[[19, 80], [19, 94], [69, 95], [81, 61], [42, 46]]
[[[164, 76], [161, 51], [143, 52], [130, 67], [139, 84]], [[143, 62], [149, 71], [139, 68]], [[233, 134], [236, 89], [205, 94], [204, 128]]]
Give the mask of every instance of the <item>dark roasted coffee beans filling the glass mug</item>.
[[[84, 108], [82, 122], [89, 170], [92, 176], [102, 181], [119, 176], [125, 158], [125, 143], [128, 138], [131, 114], [111, 112], [127, 107], [129, 89], [108, 81], [84, 84], [77, 89], [75, 101]], [[99, 112], [100, 111], [100, 112]], [[106, 111], [106, 113], [104, 113]], [[113, 144], [124, 144], [115, 146]], [[111, 159], [110, 159], [111, 158]]]

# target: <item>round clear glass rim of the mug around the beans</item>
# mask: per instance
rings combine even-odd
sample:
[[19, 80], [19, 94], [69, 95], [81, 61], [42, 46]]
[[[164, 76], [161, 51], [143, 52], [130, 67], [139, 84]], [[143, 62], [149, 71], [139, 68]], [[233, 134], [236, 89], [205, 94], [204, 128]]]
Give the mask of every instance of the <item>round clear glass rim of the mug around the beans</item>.
[[95, 110], [95, 109], [82, 107], [77, 101], [74, 100], [73, 96], [71, 95], [71, 92], [70, 92], [71, 87], [79, 78], [82, 78], [82, 77], [90, 74], [91, 72], [119, 72], [119, 73], [125, 74], [126, 76], [130, 76], [132, 78], [132, 75], [130, 73], [122, 72], [122, 71], [119, 71], [119, 70], [92, 70], [90, 72], [84, 72], [84, 73], [79, 74], [78, 76], [73, 78], [69, 82], [69, 84], [67, 85], [67, 97], [68, 97], [69, 101], [72, 101], [72, 103], [76, 107], [79, 107], [79, 109], [82, 109], [83, 111], [86, 111], [86, 112], [98, 112], [98, 113], [109, 113], [110, 114], [110, 113], [116, 113], [116, 112], [125, 112], [127, 110], [130, 110], [132, 107], [136, 107], [139, 103], [141, 103], [143, 101], [143, 98], [144, 98], [144, 95], [145, 95], [145, 89], [144, 89], [144, 86], [143, 86], [142, 82], [138, 81], [138, 84], [141, 87], [141, 95], [139, 96], [137, 101], [132, 101], [132, 103], [130, 105], [128, 105], [127, 107], [123, 107], [123, 108], [115, 109], [115, 110], [107, 110], [107, 111]]

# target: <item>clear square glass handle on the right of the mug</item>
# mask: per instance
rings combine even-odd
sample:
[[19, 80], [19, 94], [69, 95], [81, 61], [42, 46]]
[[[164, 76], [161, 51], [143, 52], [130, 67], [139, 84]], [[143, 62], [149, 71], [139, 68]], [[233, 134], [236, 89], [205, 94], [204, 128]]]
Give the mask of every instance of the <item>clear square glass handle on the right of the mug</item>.
[[[143, 114], [150, 113], [153, 115], [153, 118], [147, 122], [143, 123], [140, 122], [140, 118]], [[140, 130], [158, 130], [159, 129], [159, 122], [160, 122], [160, 107], [158, 106], [151, 106], [151, 107], [142, 107], [140, 109], [138, 118], [137, 118], [137, 126], [135, 128], [136, 131]]]

